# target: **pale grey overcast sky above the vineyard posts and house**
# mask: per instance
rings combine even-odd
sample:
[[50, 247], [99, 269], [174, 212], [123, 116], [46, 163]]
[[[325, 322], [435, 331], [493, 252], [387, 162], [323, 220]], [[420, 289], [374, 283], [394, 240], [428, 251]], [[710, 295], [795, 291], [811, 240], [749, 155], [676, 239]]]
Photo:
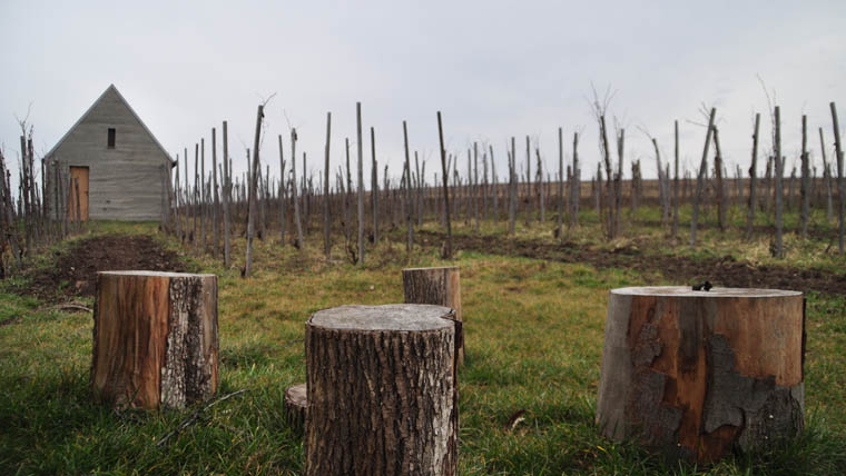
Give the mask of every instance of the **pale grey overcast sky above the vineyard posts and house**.
[[[511, 136], [524, 167], [528, 135], [554, 175], [562, 127], [568, 160], [573, 131], [583, 131], [580, 158], [588, 179], [599, 158], [588, 102], [593, 83], [600, 93], [614, 91], [609, 116], [627, 129], [627, 178], [632, 159], [642, 159], [645, 176], [655, 177], [651, 143], [640, 129], [657, 137], [662, 158], [670, 159], [677, 119], [682, 163], [698, 163], [705, 128], [691, 121], [705, 121], [702, 105], [717, 107], [724, 157], [734, 172], [735, 163], [748, 168], [755, 112], [763, 116], [763, 146], [770, 146], [760, 77], [781, 106], [788, 163], [798, 156], [806, 113], [819, 165], [817, 128], [829, 148], [834, 142], [830, 101], [838, 102], [846, 125], [845, 19], [843, 0], [2, 0], [0, 142], [17, 161], [16, 115], [26, 116], [31, 103], [37, 155], [47, 152], [115, 83], [174, 157], [201, 137], [209, 141], [210, 129], [228, 120], [239, 171], [252, 147], [256, 106], [276, 93], [266, 109], [262, 150], [275, 176], [277, 135], [289, 156], [288, 121], [309, 170], [322, 169], [327, 111], [335, 170], [344, 138], [355, 142], [361, 101], [365, 162], [374, 127], [380, 175], [384, 163], [391, 176], [401, 171], [403, 120], [411, 149], [427, 159], [426, 175], [440, 171], [441, 110], [447, 150], [460, 153], [461, 170], [468, 146], [489, 142], [502, 177]], [[351, 153], [355, 159], [354, 147]], [[189, 162], [193, 168], [193, 157]]]

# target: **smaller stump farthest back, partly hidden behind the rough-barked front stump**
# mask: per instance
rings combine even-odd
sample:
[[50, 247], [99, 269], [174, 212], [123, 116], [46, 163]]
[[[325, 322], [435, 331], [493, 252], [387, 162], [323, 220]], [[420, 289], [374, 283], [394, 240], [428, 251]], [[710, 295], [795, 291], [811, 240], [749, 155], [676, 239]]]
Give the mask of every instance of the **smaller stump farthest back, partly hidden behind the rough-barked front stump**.
[[[433, 304], [451, 307], [455, 311], [455, 320], [461, 317], [461, 279], [458, 266], [442, 268], [406, 268], [403, 269], [403, 292], [406, 304]], [[464, 363], [464, 343], [458, 353], [458, 363]]]

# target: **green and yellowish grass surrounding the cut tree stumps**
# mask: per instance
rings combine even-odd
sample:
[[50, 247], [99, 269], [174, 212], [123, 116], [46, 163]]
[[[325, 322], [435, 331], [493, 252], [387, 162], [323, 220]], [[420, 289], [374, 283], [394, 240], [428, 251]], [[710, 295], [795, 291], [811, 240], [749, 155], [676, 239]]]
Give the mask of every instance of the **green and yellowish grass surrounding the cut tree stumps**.
[[[653, 210], [643, 210], [648, 221]], [[738, 217], [738, 220], [740, 218]], [[789, 221], [788, 221], [789, 222]], [[660, 240], [649, 252], [731, 255], [773, 262], [767, 239], [742, 242], [701, 232], [690, 251], [682, 225], [679, 244], [663, 231], [630, 227], [629, 238], [599, 241], [588, 218], [571, 239], [609, 249], [622, 241]], [[434, 226], [431, 225], [432, 229]], [[652, 227], [653, 228], [653, 227]], [[521, 231], [552, 240], [551, 224]], [[151, 224], [95, 224], [92, 234], [156, 234]], [[502, 234], [504, 224], [483, 227]], [[463, 225], [456, 232], [469, 232]], [[354, 267], [336, 245], [322, 257], [315, 232], [303, 252], [278, 238], [256, 244], [254, 277], [224, 269], [208, 256], [180, 251], [189, 269], [219, 276], [220, 393], [248, 391], [214, 406], [163, 446], [156, 443], [193, 413], [112, 411], [89, 399], [91, 315], [65, 313], [46, 301], [0, 288], [0, 474], [302, 474], [302, 437], [283, 417], [287, 386], [305, 380], [304, 321], [317, 309], [343, 304], [402, 301], [401, 270], [437, 266], [439, 247], [406, 257], [402, 230]], [[178, 244], [159, 236], [164, 246]], [[797, 268], [839, 269], [843, 258], [824, 254], [827, 239], [800, 242], [790, 235], [787, 261]], [[59, 248], [67, 249], [69, 244]], [[235, 256], [243, 259], [243, 240]], [[835, 242], [836, 248], [836, 242]], [[46, 254], [33, 266], [50, 266]], [[461, 369], [460, 473], [464, 475], [714, 474], [834, 475], [846, 470], [846, 299], [808, 295], [805, 364], [806, 432], [767, 454], [739, 455], [718, 465], [668, 463], [631, 444], [616, 444], [593, 425], [608, 290], [669, 282], [659, 274], [594, 268], [531, 258], [458, 252], [465, 320], [466, 360]], [[90, 298], [82, 299], [88, 305]], [[17, 319], [16, 319], [17, 318]], [[10, 320], [11, 319], [11, 320]], [[513, 430], [509, 418], [525, 410]]]

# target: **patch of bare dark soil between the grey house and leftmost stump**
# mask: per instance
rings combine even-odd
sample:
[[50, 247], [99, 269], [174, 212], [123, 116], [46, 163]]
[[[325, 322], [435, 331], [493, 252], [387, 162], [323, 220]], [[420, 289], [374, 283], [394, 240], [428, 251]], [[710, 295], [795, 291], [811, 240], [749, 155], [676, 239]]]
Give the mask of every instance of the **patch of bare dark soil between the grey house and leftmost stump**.
[[97, 271], [129, 269], [179, 272], [185, 266], [150, 236], [107, 235], [80, 240], [51, 268], [35, 270], [19, 291], [47, 300], [94, 296]]

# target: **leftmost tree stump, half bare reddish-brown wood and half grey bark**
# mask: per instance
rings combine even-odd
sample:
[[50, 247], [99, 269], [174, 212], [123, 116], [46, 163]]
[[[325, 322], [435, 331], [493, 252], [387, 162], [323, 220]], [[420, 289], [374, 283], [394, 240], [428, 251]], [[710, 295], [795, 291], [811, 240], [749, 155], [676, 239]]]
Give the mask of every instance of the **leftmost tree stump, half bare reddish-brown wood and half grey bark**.
[[217, 277], [97, 274], [91, 390], [115, 406], [183, 408], [217, 390]]

